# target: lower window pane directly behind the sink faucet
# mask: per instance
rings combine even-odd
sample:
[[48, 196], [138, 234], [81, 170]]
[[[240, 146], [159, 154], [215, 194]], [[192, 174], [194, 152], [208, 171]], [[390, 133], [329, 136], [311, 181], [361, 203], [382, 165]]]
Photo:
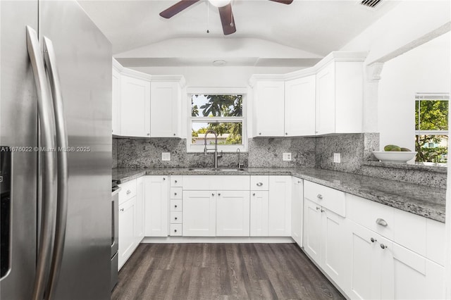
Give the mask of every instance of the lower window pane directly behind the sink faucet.
[[[242, 123], [201, 123], [192, 122], [191, 144], [204, 144], [205, 132], [214, 130], [218, 133], [218, 145], [242, 144]], [[214, 144], [214, 135], [206, 136], [206, 144]]]

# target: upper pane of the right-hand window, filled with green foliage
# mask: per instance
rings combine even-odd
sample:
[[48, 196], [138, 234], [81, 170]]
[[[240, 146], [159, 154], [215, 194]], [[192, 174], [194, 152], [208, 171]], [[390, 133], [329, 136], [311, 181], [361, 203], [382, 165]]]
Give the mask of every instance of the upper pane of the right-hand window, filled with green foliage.
[[416, 130], [448, 130], [448, 101], [417, 100], [415, 102]]

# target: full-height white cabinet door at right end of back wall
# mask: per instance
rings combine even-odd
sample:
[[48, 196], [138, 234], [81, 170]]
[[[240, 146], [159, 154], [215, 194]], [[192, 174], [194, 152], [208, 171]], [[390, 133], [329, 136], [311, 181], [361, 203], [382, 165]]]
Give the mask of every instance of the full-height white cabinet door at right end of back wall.
[[269, 176], [268, 235], [291, 236], [291, 176]]

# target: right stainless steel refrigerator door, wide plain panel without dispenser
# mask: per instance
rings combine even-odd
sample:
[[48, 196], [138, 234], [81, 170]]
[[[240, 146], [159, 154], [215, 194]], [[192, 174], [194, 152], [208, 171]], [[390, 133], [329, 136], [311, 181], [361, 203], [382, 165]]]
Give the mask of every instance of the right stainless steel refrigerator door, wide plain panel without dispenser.
[[[109, 299], [111, 44], [76, 1], [39, 1], [39, 39], [51, 39], [68, 130], [68, 223], [55, 299]], [[42, 42], [41, 42], [42, 43]]]

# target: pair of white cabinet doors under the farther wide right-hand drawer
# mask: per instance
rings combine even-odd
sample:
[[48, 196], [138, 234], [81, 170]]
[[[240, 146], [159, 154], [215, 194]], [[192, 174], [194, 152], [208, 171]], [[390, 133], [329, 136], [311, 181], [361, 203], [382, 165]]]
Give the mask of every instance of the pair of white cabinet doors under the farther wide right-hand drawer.
[[345, 228], [340, 215], [304, 199], [304, 250], [338, 286], [347, 268]]

